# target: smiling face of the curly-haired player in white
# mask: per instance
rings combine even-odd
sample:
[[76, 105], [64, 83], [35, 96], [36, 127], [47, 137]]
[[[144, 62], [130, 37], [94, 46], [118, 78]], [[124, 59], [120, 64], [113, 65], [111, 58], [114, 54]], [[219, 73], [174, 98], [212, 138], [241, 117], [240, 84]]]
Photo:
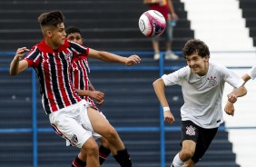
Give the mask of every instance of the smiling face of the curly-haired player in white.
[[186, 60], [193, 74], [198, 74], [200, 76], [207, 74], [209, 68], [209, 56], [201, 57], [196, 53], [187, 55]]

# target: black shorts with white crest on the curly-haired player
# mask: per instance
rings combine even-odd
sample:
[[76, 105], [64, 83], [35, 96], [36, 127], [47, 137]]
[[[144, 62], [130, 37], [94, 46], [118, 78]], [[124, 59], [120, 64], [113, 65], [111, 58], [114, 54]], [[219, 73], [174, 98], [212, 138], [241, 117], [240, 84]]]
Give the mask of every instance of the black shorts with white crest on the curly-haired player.
[[199, 162], [210, 146], [217, 131], [218, 128], [204, 129], [192, 123], [192, 121], [182, 121], [182, 142], [184, 140], [196, 142], [195, 152], [192, 156], [193, 162]]

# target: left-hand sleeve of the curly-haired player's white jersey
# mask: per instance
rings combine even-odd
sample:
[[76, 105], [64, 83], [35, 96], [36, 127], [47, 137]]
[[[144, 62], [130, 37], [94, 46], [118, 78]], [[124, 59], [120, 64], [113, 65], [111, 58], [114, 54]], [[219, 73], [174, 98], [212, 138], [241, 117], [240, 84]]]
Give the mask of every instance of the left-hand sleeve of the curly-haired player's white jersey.
[[182, 79], [184, 79], [187, 74], [189, 74], [189, 67], [183, 67], [172, 74], [163, 74], [162, 75], [162, 80], [163, 83], [166, 86], [173, 85], [173, 84], [180, 84]]

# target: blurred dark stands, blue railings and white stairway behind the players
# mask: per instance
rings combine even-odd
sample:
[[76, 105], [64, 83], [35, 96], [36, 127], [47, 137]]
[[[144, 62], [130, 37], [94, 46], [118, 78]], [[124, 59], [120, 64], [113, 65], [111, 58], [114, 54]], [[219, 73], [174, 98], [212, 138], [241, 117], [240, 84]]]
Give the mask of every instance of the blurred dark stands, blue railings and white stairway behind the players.
[[[37, 17], [61, 10], [65, 26], [77, 26], [84, 45], [96, 50], [129, 56], [142, 63], [133, 67], [89, 60], [91, 81], [105, 93], [100, 109], [113, 124], [134, 167], [167, 167], [180, 150], [182, 92], [178, 85], [166, 94], [175, 116], [171, 125], [162, 122], [162, 110], [152, 83], [186, 65], [182, 46], [199, 38], [210, 47], [211, 59], [241, 75], [256, 63], [256, 1], [173, 0], [179, 19], [173, 30], [172, 50], [177, 60], [153, 60], [151, 38], [139, 30], [138, 19], [148, 10], [143, 0], [0, 0], [0, 166], [71, 166], [79, 152], [65, 147], [44, 113], [36, 74], [32, 69], [16, 77], [8, 73], [18, 47], [31, 48], [43, 35]], [[161, 38], [161, 50], [165, 44]], [[234, 117], [225, 115], [199, 167], [255, 167], [255, 81], [247, 83], [248, 94], [235, 104]], [[231, 91], [226, 86], [224, 94]], [[226, 102], [224, 95], [223, 103]], [[110, 156], [103, 166], [118, 166]]]

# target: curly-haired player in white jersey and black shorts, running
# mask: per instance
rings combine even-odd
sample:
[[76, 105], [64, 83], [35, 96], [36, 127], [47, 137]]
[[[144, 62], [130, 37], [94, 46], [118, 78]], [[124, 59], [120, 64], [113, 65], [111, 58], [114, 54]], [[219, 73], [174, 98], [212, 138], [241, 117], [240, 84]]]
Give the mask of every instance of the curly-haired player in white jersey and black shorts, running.
[[235, 103], [237, 97], [247, 91], [241, 77], [225, 66], [209, 61], [209, 48], [201, 40], [189, 40], [182, 53], [188, 65], [172, 74], [163, 74], [153, 82], [153, 88], [163, 108], [164, 122], [173, 123], [172, 107], [169, 107], [164, 87], [173, 84], [182, 86], [182, 149], [173, 158], [172, 167], [193, 167], [202, 158], [223, 123], [224, 84], [230, 83], [235, 89], [228, 94], [230, 103]]

